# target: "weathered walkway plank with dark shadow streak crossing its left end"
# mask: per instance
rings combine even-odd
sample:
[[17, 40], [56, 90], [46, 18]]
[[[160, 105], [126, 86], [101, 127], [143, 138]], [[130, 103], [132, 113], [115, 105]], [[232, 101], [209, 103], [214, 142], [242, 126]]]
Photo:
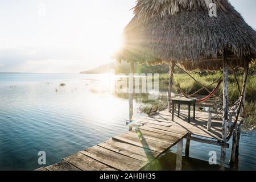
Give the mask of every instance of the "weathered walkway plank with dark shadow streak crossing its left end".
[[164, 142], [171, 145], [176, 143], [177, 140], [180, 139], [179, 137], [174, 137], [174, 136], [171, 137], [170, 135], [164, 135], [164, 134], [155, 133], [147, 130], [141, 130], [141, 129], [137, 129], [137, 131], [134, 131], [134, 130], [130, 131], [127, 134], [134, 135], [134, 136], [142, 136], [146, 139], [151, 139], [158, 142]]

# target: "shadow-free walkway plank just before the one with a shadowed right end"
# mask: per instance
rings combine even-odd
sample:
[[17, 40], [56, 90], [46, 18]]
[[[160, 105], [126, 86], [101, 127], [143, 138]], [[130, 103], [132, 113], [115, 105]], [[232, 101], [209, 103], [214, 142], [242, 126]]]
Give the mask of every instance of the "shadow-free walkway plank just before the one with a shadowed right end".
[[130, 158], [100, 146], [93, 146], [80, 152], [101, 163], [122, 171], [138, 171], [147, 164], [147, 162]]

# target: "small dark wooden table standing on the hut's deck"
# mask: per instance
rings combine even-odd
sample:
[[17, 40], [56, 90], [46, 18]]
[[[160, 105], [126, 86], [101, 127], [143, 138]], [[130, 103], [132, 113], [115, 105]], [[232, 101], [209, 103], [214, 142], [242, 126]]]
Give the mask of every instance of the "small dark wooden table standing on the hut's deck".
[[178, 104], [178, 115], [177, 117], [180, 117], [180, 105], [188, 105], [188, 123], [190, 123], [190, 111], [191, 111], [191, 105], [193, 104], [193, 119], [196, 118], [196, 99], [189, 99], [185, 97], [176, 97], [172, 98], [172, 121], [174, 121], [174, 107], [175, 104]]

